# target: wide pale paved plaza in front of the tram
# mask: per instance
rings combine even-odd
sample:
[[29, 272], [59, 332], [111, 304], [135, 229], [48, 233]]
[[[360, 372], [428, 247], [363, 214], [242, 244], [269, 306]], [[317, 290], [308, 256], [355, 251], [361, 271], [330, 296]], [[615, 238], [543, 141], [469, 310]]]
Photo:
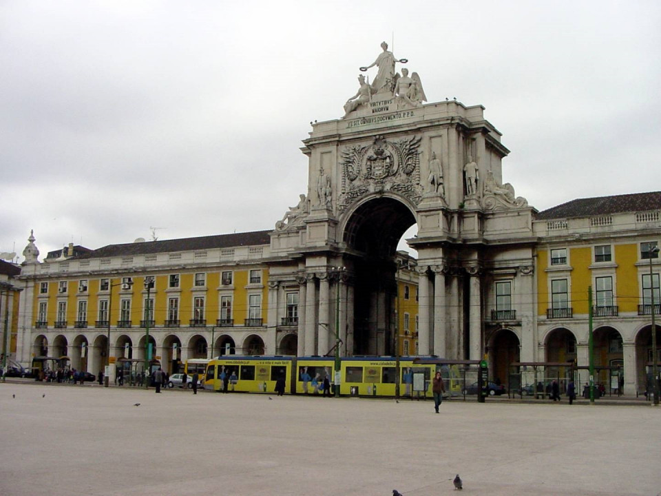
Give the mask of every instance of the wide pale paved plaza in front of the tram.
[[661, 493], [647, 404], [270, 397], [0, 384], [0, 495]]

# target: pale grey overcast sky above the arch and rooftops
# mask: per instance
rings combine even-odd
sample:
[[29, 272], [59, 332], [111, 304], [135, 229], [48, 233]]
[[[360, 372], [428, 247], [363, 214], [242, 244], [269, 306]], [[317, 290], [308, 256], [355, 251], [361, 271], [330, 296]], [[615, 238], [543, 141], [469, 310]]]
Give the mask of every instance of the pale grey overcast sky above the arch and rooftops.
[[0, 252], [272, 229], [393, 39], [538, 210], [661, 189], [658, 1], [2, 0]]

